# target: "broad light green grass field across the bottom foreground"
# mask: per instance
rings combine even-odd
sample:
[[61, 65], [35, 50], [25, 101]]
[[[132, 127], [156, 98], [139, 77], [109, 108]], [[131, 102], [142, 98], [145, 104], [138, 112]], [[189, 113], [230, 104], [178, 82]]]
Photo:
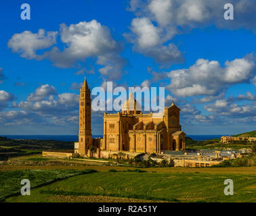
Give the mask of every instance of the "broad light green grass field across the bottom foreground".
[[[110, 196], [168, 202], [256, 202], [255, 174], [211, 174], [193, 170], [190, 173], [89, 173], [35, 188], [30, 196], [13, 196], [5, 201], [60, 202], [66, 197], [66, 202], [72, 202], [76, 197]], [[223, 182], [228, 178], [234, 182], [233, 196], [223, 194]]]

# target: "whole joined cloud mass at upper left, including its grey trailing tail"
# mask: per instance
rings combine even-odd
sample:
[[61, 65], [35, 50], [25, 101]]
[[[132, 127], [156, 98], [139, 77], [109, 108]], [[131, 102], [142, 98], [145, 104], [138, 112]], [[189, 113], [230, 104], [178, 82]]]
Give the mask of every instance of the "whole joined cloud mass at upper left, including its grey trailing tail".
[[123, 45], [112, 38], [107, 26], [102, 26], [97, 20], [79, 22], [70, 26], [61, 24], [59, 34], [63, 44], [60, 46], [64, 49], [60, 50], [60, 46], [52, 47], [50, 51], [37, 55], [37, 50], [56, 44], [57, 34], [58, 32], [45, 32], [43, 29], [35, 34], [24, 31], [14, 34], [8, 42], [8, 47], [12, 48], [13, 52], [20, 53], [21, 57], [49, 59], [60, 68], [70, 68], [78, 61], [92, 57], [97, 59], [98, 65], [103, 65], [99, 70], [103, 76], [113, 80], [121, 78], [123, 66], [126, 64], [119, 55]]

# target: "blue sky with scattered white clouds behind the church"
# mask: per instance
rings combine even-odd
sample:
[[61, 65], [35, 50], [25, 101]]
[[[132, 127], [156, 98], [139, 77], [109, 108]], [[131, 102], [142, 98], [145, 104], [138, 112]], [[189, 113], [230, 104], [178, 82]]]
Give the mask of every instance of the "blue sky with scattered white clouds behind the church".
[[0, 134], [77, 134], [84, 76], [165, 86], [186, 134], [255, 130], [255, 1], [26, 1], [30, 20], [22, 3], [1, 3]]

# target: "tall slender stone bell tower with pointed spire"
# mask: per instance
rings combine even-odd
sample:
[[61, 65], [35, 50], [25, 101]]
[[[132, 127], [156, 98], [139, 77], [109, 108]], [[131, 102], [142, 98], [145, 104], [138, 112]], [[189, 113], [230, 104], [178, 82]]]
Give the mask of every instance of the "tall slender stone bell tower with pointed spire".
[[91, 144], [91, 90], [85, 78], [79, 100], [79, 154], [86, 155]]

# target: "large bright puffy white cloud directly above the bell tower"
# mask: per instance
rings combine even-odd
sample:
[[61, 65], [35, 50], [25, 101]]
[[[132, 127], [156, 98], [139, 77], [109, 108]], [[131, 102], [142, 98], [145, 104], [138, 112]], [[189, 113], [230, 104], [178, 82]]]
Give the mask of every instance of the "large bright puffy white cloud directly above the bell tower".
[[57, 47], [45, 53], [55, 65], [66, 68], [74, 65], [78, 60], [87, 57], [97, 57], [109, 52], [120, 51], [119, 43], [116, 43], [106, 26], [102, 26], [96, 20], [91, 22], [79, 22], [78, 24], [60, 25], [60, 37], [67, 47], [60, 51]]

